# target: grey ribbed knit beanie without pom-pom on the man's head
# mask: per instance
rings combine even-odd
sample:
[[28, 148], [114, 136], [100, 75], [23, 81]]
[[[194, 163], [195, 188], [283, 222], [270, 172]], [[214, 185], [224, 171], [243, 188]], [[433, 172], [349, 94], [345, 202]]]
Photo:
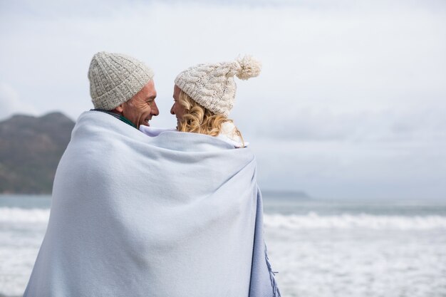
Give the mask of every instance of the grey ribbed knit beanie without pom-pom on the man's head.
[[127, 102], [153, 78], [145, 63], [120, 53], [96, 53], [88, 69], [95, 108], [113, 110]]

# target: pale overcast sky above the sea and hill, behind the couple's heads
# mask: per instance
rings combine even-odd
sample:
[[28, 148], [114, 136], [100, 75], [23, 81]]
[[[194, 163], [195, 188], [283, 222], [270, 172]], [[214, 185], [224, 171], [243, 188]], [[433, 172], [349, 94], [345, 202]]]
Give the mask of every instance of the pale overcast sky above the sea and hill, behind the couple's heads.
[[231, 118], [262, 188], [446, 199], [445, 1], [0, 0], [0, 42], [0, 120], [76, 120], [109, 51], [154, 69], [151, 125], [174, 127], [177, 73], [248, 53], [264, 67], [237, 80]]

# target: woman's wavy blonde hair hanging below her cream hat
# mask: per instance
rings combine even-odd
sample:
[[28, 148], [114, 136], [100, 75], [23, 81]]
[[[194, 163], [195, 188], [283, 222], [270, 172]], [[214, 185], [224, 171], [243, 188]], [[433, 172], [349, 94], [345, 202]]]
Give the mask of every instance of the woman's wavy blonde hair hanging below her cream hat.
[[[216, 115], [207, 108], [204, 108], [202, 105], [199, 105], [192, 98], [190, 98], [190, 95], [183, 92], [183, 90], [180, 90], [178, 103], [185, 108], [185, 113], [182, 115], [182, 120], [180, 120], [178, 123], [178, 131], [217, 136], [222, 131], [223, 123], [234, 123], [224, 115]], [[237, 127], [235, 128], [235, 133], [242, 139], [244, 144], [242, 133], [239, 131], [239, 129], [237, 129]]]

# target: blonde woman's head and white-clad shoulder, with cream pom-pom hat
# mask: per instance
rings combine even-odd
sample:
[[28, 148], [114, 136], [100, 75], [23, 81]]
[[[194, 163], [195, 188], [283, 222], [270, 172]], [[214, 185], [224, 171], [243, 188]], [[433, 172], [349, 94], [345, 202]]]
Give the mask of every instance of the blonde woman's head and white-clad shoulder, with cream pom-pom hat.
[[218, 137], [234, 147], [244, 147], [240, 131], [227, 116], [235, 100], [234, 75], [247, 80], [260, 73], [261, 65], [246, 56], [231, 63], [200, 64], [175, 79], [170, 113], [177, 117], [177, 130]]

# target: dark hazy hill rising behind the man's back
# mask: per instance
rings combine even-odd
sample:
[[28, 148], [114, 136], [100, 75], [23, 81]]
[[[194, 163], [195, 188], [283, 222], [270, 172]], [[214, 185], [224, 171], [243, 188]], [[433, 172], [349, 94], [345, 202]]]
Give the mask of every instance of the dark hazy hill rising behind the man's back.
[[74, 122], [62, 113], [0, 122], [0, 193], [51, 193]]

